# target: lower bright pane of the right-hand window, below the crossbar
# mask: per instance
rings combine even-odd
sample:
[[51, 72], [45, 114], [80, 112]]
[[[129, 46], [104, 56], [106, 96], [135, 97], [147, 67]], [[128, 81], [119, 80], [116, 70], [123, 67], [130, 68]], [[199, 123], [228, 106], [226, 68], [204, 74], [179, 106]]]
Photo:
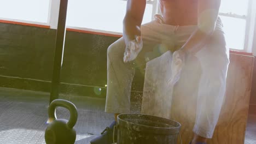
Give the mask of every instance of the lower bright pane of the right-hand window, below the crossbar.
[[227, 46], [230, 49], [243, 50], [245, 44], [246, 20], [227, 16], [220, 17], [224, 25]]

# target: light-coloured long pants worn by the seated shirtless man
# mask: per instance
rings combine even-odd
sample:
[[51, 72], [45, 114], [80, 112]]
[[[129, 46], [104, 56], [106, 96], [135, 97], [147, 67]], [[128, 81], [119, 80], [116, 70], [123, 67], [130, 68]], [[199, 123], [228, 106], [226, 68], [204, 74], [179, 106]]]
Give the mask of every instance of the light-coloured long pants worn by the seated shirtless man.
[[[222, 22], [217, 21], [216, 30], [207, 44], [196, 53], [201, 65], [201, 78], [197, 92], [197, 110], [194, 133], [211, 138], [218, 122], [226, 86], [229, 50], [226, 48]], [[123, 62], [125, 43], [120, 38], [107, 51], [107, 100], [106, 112], [129, 113], [131, 83], [136, 67], [166, 51], [178, 50], [190, 37], [196, 26], [171, 26], [156, 20], [141, 26], [143, 49], [130, 64]], [[165, 67], [165, 65], [162, 65]]]

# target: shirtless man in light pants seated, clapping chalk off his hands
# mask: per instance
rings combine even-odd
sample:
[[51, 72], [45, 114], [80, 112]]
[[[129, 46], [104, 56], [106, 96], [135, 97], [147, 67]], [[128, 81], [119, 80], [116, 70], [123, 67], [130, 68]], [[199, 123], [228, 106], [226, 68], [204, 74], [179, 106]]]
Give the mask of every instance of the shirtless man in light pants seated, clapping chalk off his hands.
[[[199, 59], [202, 74], [191, 144], [206, 143], [212, 138], [223, 103], [229, 64], [229, 50], [218, 17], [220, 1], [160, 0], [162, 15], [156, 15], [156, 20], [141, 25], [146, 0], [127, 0], [123, 38], [110, 45], [107, 52], [106, 112], [115, 113], [115, 121], [118, 113], [130, 112], [131, 82], [135, 74], [132, 65], [142, 65], [148, 58], [145, 53], [156, 45], [165, 45], [167, 50], [179, 53], [180, 59], [192, 55]], [[91, 144], [112, 143], [115, 124], [113, 122]]]

